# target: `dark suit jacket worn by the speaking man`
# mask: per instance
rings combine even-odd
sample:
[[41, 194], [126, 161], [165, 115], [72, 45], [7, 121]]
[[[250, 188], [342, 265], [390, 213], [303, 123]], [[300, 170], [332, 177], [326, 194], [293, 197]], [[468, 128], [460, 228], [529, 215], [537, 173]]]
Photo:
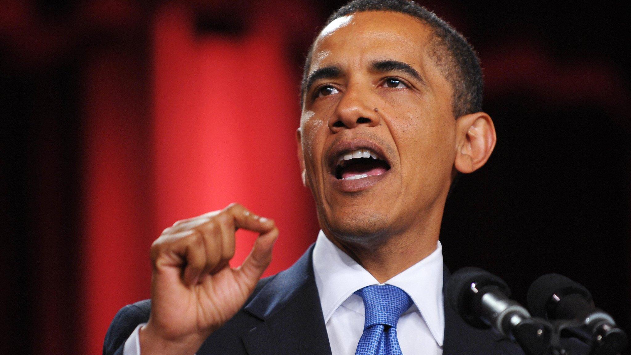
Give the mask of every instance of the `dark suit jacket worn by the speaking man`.
[[[331, 355], [315, 287], [313, 246], [290, 268], [257, 284], [244, 307], [211, 334], [197, 355]], [[449, 271], [445, 268], [445, 283]], [[122, 355], [125, 341], [139, 323], [149, 320], [151, 300], [122, 308], [105, 335], [103, 355]], [[587, 351], [572, 352], [572, 355]], [[523, 355], [492, 330], [470, 327], [445, 304], [444, 355]]]

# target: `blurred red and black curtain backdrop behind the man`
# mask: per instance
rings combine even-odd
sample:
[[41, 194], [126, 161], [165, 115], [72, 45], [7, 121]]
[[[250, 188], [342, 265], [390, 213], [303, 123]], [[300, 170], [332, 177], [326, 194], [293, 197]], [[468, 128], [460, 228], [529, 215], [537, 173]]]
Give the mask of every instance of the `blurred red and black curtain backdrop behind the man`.
[[[100, 353], [115, 312], [149, 297], [149, 246], [178, 219], [242, 202], [280, 225], [266, 274], [302, 254], [317, 224], [298, 82], [343, 3], [0, 3], [0, 354]], [[567, 275], [630, 331], [630, 14], [422, 4], [480, 52], [498, 134], [447, 202], [445, 262], [487, 268], [522, 302], [539, 275]]]

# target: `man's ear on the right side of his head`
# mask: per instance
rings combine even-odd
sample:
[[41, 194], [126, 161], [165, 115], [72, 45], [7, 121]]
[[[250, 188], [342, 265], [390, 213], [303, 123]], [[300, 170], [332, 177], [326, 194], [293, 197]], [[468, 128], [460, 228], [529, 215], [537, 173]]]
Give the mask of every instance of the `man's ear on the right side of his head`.
[[491, 156], [495, 148], [495, 126], [488, 114], [476, 112], [456, 120], [457, 150], [454, 167], [468, 174], [478, 170]]

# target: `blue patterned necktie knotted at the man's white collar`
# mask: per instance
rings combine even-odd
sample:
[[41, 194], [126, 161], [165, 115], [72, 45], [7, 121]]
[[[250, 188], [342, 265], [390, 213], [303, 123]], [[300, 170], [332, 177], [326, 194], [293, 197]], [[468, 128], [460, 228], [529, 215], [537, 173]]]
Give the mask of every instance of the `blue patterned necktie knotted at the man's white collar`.
[[391, 285], [368, 286], [355, 293], [362, 296], [366, 314], [355, 355], [402, 355], [396, 323], [412, 306], [410, 296]]

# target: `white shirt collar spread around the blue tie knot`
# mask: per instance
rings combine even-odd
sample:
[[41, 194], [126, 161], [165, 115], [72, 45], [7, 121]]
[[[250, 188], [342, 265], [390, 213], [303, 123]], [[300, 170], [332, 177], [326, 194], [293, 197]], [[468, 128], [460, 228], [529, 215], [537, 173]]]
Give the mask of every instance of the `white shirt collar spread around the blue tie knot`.
[[[313, 265], [325, 323], [353, 292], [379, 284], [365, 268], [331, 243], [322, 231], [315, 241]], [[385, 282], [410, 295], [439, 346], [442, 346], [445, 330], [442, 275], [439, 241], [432, 254]]]

